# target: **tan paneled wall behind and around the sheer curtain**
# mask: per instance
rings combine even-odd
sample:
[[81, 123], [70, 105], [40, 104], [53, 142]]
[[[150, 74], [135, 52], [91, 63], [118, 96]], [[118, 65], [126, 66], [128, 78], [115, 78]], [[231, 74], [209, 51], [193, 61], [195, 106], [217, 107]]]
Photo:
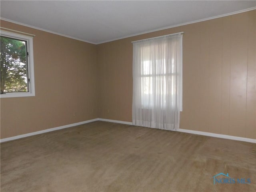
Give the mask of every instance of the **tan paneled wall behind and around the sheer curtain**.
[[98, 45], [99, 117], [132, 121], [132, 41], [183, 38], [180, 128], [256, 138], [256, 11]]

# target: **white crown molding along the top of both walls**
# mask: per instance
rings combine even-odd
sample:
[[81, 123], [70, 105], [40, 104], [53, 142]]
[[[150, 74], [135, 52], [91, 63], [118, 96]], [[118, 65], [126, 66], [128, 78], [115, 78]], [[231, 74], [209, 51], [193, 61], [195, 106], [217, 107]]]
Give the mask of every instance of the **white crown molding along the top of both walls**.
[[10, 19], [6, 19], [6, 18], [2, 18], [2, 17], [0, 17], [0, 19], [4, 20], [4, 21], [15, 23], [15, 24], [18, 24], [18, 25], [22, 25], [22, 26], [34, 28], [34, 29], [37, 29], [37, 30], [45, 31], [45, 32], [48, 32], [48, 33], [52, 33], [52, 34], [64, 36], [64, 37], [67, 37], [67, 38], [83, 41], [83, 42], [86, 42], [86, 43], [91, 43], [91, 44], [98, 45], [98, 44], [107, 43], [107, 42], [111, 42], [111, 41], [115, 41], [115, 40], [120, 40], [120, 39], [124, 39], [124, 38], [128, 38], [128, 37], [134, 37], [134, 36], [138, 36], [138, 35], [142, 35], [142, 34], [147, 34], [147, 33], [151, 33], [151, 32], [156, 32], [156, 31], [160, 31], [160, 30], [165, 30], [165, 29], [170, 29], [170, 28], [179, 27], [179, 26], [183, 26], [183, 25], [188, 25], [188, 24], [193, 24], [193, 23], [197, 23], [197, 22], [202, 22], [202, 21], [207, 21], [207, 20], [211, 20], [211, 19], [216, 19], [216, 18], [220, 18], [220, 17], [230, 16], [230, 15], [234, 15], [234, 14], [238, 14], [238, 13], [242, 13], [242, 12], [251, 11], [251, 10], [254, 10], [254, 9], [256, 9], [256, 7], [252, 7], [252, 8], [236, 11], [236, 12], [231, 12], [231, 13], [228, 13], [228, 14], [222, 14], [222, 15], [219, 15], [219, 16], [208, 17], [208, 18], [205, 18], [205, 19], [200, 19], [200, 20], [196, 20], [196, 21], [192, 21], [192, 22], [186, 22], [186, 23], [182, 23], [182, 24], [177, 24], [177, 25], [172, 25], [172, 26], [168, 26], [168, 27], [164, 27], [164, 28], [150, 30], [150, 31], [142, 32], [142, 33], [136, 33], [136, 34], [132, 34], [132, 35], [128, 35], [128, 36], [124, 36], [124, 37], [120, 37], [120, 38], [115, 38], [115, 39], [111, 39], [111, 40], [106, 40], [106, 41], [102, 41], [102, 42], [98, 42], [98, 43], [90, 42], [90, 41], [87, 41], [87, 40], [75, 38], [75, 37], [64, 35], [64, 34], [60, 34], [60, 33], [57, 33], [57, 32], [53, 32], [53, 31], [42, 29], [42, 28], [39, 28], [39, 27], [27, 25], [27, 24], [24, 24], [24, 23], [16, 22], [16, 21], [13, 21], [13, 20], [10, 20]]

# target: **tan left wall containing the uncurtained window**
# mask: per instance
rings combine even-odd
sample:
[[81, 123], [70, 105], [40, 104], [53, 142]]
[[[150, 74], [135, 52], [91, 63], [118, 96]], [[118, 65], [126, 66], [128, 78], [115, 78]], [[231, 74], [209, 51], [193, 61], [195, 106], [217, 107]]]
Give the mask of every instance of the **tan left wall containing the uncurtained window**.
[[1, 26], [36, 35], [36, 96], [1, 98], [1, 138], [98, 117], [96, 45], [2, 20]]

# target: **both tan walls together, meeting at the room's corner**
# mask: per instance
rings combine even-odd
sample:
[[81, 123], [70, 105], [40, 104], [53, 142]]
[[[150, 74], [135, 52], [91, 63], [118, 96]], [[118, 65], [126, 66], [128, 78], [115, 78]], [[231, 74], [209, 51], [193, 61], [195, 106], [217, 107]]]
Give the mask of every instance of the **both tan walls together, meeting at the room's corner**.
[[1, 99], [1, 138], [98, 117], [131, 122], [131, 42], [182, 31], [180, 128], [256, 138], [255, 23], [253, 10], [92, 45], [1, 21], [36, 34], [36, 96]]

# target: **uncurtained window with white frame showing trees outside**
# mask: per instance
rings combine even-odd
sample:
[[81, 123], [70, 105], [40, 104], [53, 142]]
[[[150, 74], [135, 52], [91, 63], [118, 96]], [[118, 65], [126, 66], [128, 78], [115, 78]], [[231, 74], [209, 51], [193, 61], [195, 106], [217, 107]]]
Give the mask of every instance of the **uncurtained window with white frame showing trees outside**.
[[1, 31], [0, 97], [35, 96], [33, 38]]

